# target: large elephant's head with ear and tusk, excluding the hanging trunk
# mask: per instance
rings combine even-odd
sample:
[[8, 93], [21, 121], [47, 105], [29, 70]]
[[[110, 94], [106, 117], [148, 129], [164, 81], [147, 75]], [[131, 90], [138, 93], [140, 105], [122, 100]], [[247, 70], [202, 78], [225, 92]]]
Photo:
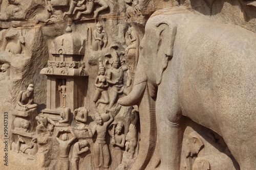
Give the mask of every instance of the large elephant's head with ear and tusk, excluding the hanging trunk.
[[155, 20], [146, 24], [145, 34], [140, 44], [133, 89], [129, 95], [119, 99], [119, 104], [123, 106], [139, 104], [146, 86], [150, 96], [155, 98], [157, 86], [161, 83], [162, 72], [173, 57], [176, 30], [177, 25], [172, 20]]

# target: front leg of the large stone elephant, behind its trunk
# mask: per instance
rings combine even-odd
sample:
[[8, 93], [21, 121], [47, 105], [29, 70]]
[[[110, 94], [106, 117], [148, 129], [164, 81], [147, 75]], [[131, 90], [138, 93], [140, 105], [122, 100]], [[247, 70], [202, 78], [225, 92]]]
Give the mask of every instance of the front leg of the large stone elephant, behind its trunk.
[[[170, 69], [170, 66], [167, 69]], [[183, 135], [180, 126], [182, 113], [175, 77], [166, 75], [170, 74], [167, 69], [163, 72], [162, 82], [158, 86], [156, 102], [157, 135], [161, 159], [159, 169], [178, 170]]]

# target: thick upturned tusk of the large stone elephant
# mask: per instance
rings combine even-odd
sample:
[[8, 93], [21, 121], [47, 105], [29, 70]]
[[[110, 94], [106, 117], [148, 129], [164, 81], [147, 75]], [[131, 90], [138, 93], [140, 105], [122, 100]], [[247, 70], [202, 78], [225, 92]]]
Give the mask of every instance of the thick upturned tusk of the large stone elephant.
[[135, 84], [133, 86], [133, 90], [129, 93], [129, 95], [119, 99], [118, 103], [122, 106], [137, 105], [139, 100], [141, 99], [141, 96], [145, 91], [145, 88], [146, 88], [146, 81]]

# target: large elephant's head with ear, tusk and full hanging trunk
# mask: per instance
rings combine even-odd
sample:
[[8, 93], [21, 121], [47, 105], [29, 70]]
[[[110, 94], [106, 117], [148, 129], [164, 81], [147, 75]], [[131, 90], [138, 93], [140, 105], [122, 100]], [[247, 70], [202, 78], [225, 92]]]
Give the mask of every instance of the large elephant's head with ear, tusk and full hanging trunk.
[[144, 169], [151, 157], [156, 159], [153, 160], [155, 162], [153, 166], [157, 166], [160, 160], [155, 152], [157, 145], [155, 99], [163, 71], [173, 57], [176, 31], [176, 23], [167, 18], [146, 23], [145, 34], [140, 43], [133, 89], [129, 95], [118, 100], [120, 105], [138, 105], [140, 109], [140, 142], [143, 144], [140, 146], [139, 155], [132, 169], [138, 167]]

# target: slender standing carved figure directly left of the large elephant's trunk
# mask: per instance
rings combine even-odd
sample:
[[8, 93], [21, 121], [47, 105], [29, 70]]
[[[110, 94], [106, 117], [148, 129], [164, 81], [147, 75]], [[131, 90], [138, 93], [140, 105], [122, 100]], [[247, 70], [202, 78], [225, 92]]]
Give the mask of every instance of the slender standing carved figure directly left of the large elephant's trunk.
[[135, 148], [137, 146], [137, 121], [138, 121], [138, 111], [133, 109], [132, 115], [134, 115], [134, 119], [131, 120], [131, 124], [129, 126], [129, 132], [126, 135], [126, 143], [125, 143], [125, 151], [129, 151], [131, 154], [130, 159], [133, 159]]

